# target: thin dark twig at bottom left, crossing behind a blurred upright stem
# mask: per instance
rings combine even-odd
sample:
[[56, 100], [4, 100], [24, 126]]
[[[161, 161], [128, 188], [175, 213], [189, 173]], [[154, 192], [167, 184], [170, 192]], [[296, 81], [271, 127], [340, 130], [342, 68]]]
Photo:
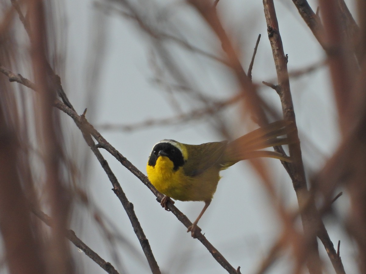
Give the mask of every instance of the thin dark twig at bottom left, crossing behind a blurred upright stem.
[[[40, 220], [42, 220], [46, 225], [51, 227], [53, 225], [52, 218], [47, 214], [42, 212], [39, 209], [32, 208], [32, 212], [36, 215]], [[68, 229], [65, 233], [65, 237], [71, 241], [77, 248], [82, 250], [85, 255], [87, 255], [90, 259], [96, 262], [102, 269], [104, 269], [107, 273], [110, 274], [118, 274], [117, 270], [111, 265], [111, 263], [106, 262], [102, 259], [96, 252], [94, 252], [89, 246], [87, 246], [81, 239], [79, 239], [75, 232], [71, 229]]]

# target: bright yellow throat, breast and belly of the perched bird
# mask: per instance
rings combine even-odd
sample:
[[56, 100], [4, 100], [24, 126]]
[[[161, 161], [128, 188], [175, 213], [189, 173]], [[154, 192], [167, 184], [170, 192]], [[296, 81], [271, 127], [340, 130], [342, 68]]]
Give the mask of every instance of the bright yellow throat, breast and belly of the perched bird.
[[173, 170], [173, 162], [158, 157], [154, 167], [147, 165], [147, 176], [158, 191], [180, 201], [210, 201], [219, 182], [219, 168], [212, 167], [201, 175], [186, 176], [183, 168]]

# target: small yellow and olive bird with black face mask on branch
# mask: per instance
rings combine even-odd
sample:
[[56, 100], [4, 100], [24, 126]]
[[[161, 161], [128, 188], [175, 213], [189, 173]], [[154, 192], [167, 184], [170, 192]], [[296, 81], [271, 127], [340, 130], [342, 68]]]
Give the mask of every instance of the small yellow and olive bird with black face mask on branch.
[[[276, 121], [228, 142], [208, 142], [200, 145], [183, 144], [164, 139], [157, 142], [146, 165], [147, 177], [164, 197], [161, 206], [168, 210], [167, 202], [203, 201], [205, 206], [197, 219], [188, 227], [192, 237], [201, 229], [197, 223], [211, 203], [220, 171], [241, 160], [270, 157], [291, 162], [291, 157], [275, 151], [264, 151], [270, 146], [290, 144], [284, 136], [294, 131], [291, 121]], [[280, 137], [280, 138], [279, 138]], [[172, 198], [172, 199], [171, 199]]]

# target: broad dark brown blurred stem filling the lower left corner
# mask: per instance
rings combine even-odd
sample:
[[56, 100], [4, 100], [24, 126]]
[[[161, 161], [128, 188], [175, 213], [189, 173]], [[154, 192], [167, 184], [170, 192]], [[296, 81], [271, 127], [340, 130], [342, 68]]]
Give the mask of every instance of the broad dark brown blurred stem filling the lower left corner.
[[[10, 273], [47, 273], [42, 248], [37, 241], [40, 231], [32, 226], [22, 182], [18, 174], [19, 142], [6, 98], [7, 89], [0, 81], [0, 232], [2, 253]], [[10, 121], [9, 121], [10, 120]]]

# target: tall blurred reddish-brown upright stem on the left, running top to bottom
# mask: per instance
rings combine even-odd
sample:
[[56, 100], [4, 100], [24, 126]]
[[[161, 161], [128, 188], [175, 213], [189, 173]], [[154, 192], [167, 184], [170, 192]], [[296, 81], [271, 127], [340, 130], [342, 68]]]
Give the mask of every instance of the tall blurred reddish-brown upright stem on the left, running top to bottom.
[[61, 130], [60, 114], [52, 107], [56, 98], [57, 84], [46, 56], [48, 55], [48, 21], [46, 7], [43, 1], [29, 1], [27, 12], [30, 32], [30, 65], [34, 82], [37, 85], [37, 95], [34, 103], [36, 118], [35, 130], [39, 137], [44, 159], [44, 181], [48, 206], [54, 225], [51, 227], [50, 238], [46, 247], [46, 262], [54, 274], [75, 273], [70, 245], [63, 233], [68, 227], [70, 216], [71, 196], [68, 192], [67, 180], [64, 179], [64, 138]]

